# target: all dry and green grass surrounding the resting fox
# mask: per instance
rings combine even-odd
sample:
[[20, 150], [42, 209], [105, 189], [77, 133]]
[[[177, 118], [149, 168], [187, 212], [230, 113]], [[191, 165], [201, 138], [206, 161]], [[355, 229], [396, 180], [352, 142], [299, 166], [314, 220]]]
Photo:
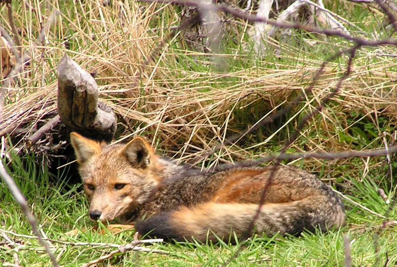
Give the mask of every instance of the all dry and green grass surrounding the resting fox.
[[[128, 0], [7, 2], [11, 1], [0, 1], [1, 34], [13, 32], [11, 12], [20, 46], [11, 42], [10, 51], [22, 55], [24, 63], [14, 62], [12, 70], [19, 69], [1, 81], [1, 158], [62, 266], [81, 266], [107, 255], [116, 244], [133, 241], [131, 231], [65, 235], [91, 227], [87, 202], [79, 184], [67, 183], [74, 176], [70, 166], [56, 168], [60, 164], [54, 155], [63, 150], [57, 154], [49, 148], [58, 144], [51, 139], [34, 146], [26, 142], [56, 114], [56, 67], [64, 53], [95, 73], [101, 99], [117, 114], [118, 139], [146, 135], [159, 153], [180, 162], [208, 168], [283, 149], [360, 152], [396, 145], [396, 45], [360, 47], [349, 65], [348, 53], [328, 59], [353, 47], [352, 40], [293, 29], [288, 40], [269, 38], [267, 49], [258, 55], [248, 34], [252, 22], [226, 13], [229, 19], [222, 23], [228, 25], [227, 38], [214, 55], [190, 49], [180, 32], [171, 34], [179, 24], [180, 5]], [[396, 36], [376, 1], [324, 3], [346, 18], [351, 36]], [[297, 95], [303, 97], [291, 110], [242, 134]], [[319, 106], [321, 110], [305, 121]], [[299, 128], [301, 121], [306, 123]], [[235, 134], [241, 136], [236, 143], [219, 146]], [[291, 144], [284, 146], [288, 140]], [[149, 252], [118, 253], [98, 266], [396, 265], [395, 155], [284, 163], [317, 173], [338, 190], [346, 207], [346, 226], [300, 237], [258, 235], [237, 246], [155, 243], [146, 245]], [[4, 184], [0, 199], [0, 263], [52, 266]]]

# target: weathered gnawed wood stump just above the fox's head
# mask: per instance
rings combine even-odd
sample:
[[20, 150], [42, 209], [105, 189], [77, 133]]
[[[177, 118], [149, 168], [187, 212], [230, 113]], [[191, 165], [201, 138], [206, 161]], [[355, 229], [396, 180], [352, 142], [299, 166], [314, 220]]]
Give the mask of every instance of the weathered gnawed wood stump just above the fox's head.
[[110, 141], [116, 131], [116, 116], [98, 101], [94, 78], [66, 54], [58, 64], [58, 114], [72, 130], [97, 140]]

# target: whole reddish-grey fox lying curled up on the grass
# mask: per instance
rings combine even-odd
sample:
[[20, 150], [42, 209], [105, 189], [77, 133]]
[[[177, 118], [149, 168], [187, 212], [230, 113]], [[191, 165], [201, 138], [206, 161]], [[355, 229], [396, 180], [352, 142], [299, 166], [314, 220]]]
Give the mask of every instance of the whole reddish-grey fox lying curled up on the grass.
[[[72, 132], [93, 221], [135, 226], [168, 241], [227, 240], [328, 231], [345, 223], [340, 198], [317, 176], [290, 166], [236, 167], [191, 174], [156, 154], [143, 137], [107, 144]], [[177, 178], [175, 178], [177, 177]], [[233, 231], [233, 232], [232, 232]]]

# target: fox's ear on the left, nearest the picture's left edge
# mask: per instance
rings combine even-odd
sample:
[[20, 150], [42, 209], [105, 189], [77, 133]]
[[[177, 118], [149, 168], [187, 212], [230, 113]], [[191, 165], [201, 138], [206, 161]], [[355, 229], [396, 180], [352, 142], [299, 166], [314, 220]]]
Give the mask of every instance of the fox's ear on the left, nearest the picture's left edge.
[[75, 132], [70, 134], [70, 139], [79, 164], [86, 162], [95, 153], [99, 152], [100, 144], [97, 141], [85, 138]]

